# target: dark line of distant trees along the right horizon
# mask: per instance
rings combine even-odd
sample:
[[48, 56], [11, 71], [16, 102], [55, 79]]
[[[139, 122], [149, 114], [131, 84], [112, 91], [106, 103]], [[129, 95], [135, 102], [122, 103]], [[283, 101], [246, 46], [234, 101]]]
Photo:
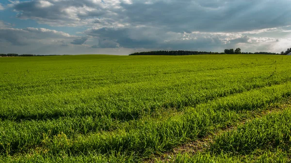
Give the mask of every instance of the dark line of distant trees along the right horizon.
[[177, 50], [177, 51], [148, 51], [148, 52], [137, 52], [129, 54], [129, 56], [185, 56], [185, 55], [198, 55], [198, 54], [270, 54], [270, 55], [287, 55], [291, 52], [291, 48], [289, 48], [287, 51], [282, 51], [279, 53], [270, 53], [270, 52], [241, 52], [241, 48], [237, 49], [225, 49], [224, 52], [206, 52], [206, 51], [185, 51], [185, 50]]

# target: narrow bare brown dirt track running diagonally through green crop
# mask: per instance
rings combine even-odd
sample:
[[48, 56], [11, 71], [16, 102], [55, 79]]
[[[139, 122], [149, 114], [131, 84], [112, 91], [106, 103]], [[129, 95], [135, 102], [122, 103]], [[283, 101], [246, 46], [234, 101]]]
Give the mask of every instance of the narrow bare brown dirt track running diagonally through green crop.
[[220, 134], [223, 134], [232, 130], [236, 130], [239, 125], [242, 125], [247, 121], [263, 117], [270, 113], [279, 112], [287, 107], [291, 107], [291, 98], [288, 98], [288, 100], [280, 104], [276, 104], [275, 106], [267, 107], [267, 109], [263, 111], [254, 112], [253, 117], [244, 119], [240, 123], [237, 123], [235, 126], [230, 126], [227, 128], [220, 129], [216, 133], [212, 133], [205, 137], [199, 138], [195, 141], [188, 142], [186, 144], [173, 148], [171, 151], [168, 151], [166, 153], [157, 154], [153, 156], [152, 158], [145, 160], [145, 163], [155, 163], [157, 160], [162, 161], [162, 162], [169, 162], [172, 158], [176, 158], [179, 153], [195, 154], [197, 152], [205, 151], [206, 149], [210, 147], [209, 145], [213, 141], [215, 136], [218, 136]]

